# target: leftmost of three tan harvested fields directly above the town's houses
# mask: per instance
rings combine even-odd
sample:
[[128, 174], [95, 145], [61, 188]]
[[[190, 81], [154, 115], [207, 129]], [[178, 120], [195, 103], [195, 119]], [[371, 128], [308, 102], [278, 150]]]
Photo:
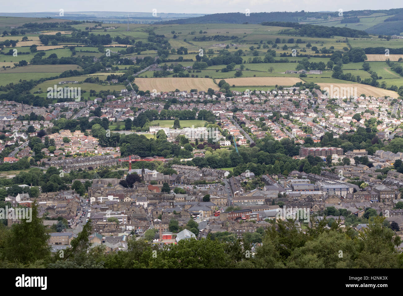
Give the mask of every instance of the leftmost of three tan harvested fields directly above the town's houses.
[[188, 78], [188, 77], [168, 77], [168, 78], [136, 78], [134, 83], [142, 91], [155, 89], [160, 91], [190, 91], [197, 89], [198, 91], [207, 91], [209, 88], [218, 90], [219, 87], [210, 78]]

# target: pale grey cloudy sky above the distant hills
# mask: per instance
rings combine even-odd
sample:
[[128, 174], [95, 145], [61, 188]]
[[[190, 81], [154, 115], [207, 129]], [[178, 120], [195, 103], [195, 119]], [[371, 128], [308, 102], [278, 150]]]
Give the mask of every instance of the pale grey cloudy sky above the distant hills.
[[401, 0], [0, 0], [1, 12], [129, 11], [175, 13], [270, 12], [270, 11], [343, 11], [401, 8]]

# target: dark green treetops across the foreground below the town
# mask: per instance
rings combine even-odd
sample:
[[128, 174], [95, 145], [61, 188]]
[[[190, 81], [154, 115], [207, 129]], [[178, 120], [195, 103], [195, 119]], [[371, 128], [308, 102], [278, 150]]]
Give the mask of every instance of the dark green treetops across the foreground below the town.
[[[64, 256], [52, 255], [43, 218], [33, 207], [30, 223], [23, 219], [11, 228], [0, 226], [2, 268], [401, 268], [403, 256], [395, 250], [399, 236], [373, 217], [367, 228], [357, 232], [343, 229], [339, 221], [330, 229], [326, 219], [313, 221], [302, 232], [295, 220], [269, 224], [259, 231], [262, 244], [253, 234], [235, 238], [208, 234], [200, 240], [181, 240], [159, 248], [145, 239], [128, 240], [128, 250], [105, 252], [105, 246], [90, 248], [88, 221]], [[259, 240], [258, 240], [259, 241]], [[342, 254], [342, 255], [340, 255]]]

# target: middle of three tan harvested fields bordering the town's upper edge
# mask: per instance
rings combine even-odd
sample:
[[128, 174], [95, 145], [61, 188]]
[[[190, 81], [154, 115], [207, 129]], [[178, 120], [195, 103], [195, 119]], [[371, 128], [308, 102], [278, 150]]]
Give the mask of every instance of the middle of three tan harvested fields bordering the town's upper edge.
[[270, 86], [270, 85], [294, 85], [302, 82], [298, 77], [242, 77], [224, 79], [229, 85], [235, 86]]

